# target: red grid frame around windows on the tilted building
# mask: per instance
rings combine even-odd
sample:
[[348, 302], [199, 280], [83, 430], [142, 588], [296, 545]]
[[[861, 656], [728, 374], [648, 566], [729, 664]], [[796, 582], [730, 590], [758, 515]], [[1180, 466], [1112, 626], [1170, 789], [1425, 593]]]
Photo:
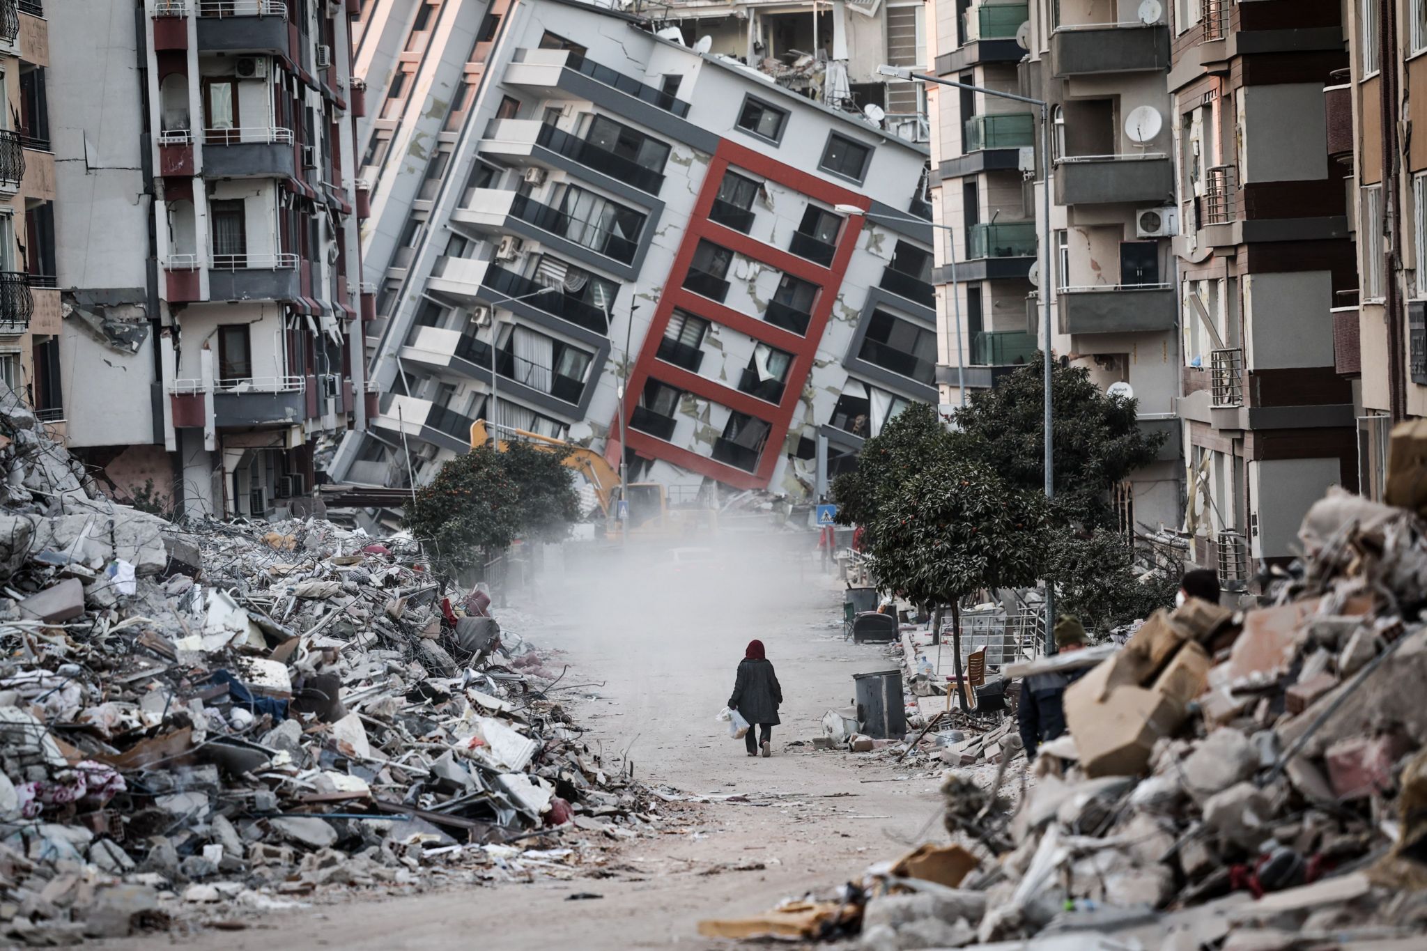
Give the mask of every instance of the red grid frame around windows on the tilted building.
[[[679, 244], [679, 250], [674, 257], [674, 265], [665, 278], [664, 291], [659, 295], [659, 302], [655, 305], [654, 317], [649, 321], [649, 329], [645, 334], [644, 342], [639, 348], [639, 355], [629, 374], [625, 389], [625, 412], [629, 415], [634, 413], [634, 406], [639, 401], [639, 394], [644, 391], [645, 382], [654, 376], [658, 381], [678, 386], [679, 389], [694, 394], [695, 396], [711, 399], [736, 412], [743, 412], [766, 421], [771, 426], [768, 441], [763, 445], [763, 452], [759, 458], [756, 472], [745, 472], [743, 469], [723, 465], [708, 456], [701, 456], [696, 452], [682, 449], [635, 429], [628, 431], [628, 441], [629, 446], [642, 456], [664, 459], [689, 469], [691, 472], [698, 472], [699, 475], [718, 479], [719, 482], [725, 482], [741, 489], [758, 489], [768, 486], [772, 479], [773, 469], [778, 466], [778, 458], [782, 455], [783, 441], [788, 438], [793, 412], [798, 408], [803, 386], [812, 372], [813, 359], [818, 354], [818, 346], [822, 342], [823, 329], [826, 329], [828, 321], [832, 317], [832, 307], [838, 299], [838, 294], [842, 288], [842, 279], [848, 271], [848, 264], [852, 261], [852, 254], [856, 250], [858, 235], [862, 232], [863, 220], [860, 215], [852, 215], [848, 218], [842, 228], [842, 234], [838, 237], [832, 265], [823, 268], [812, 261], [806, 261], [783, 251], [782, 248], [776, 248], [771, 244], [765, 244], [756, 238], [751, 238], [745, 234], [709, 221], [709, 211], [714, 207], [714, 200], [718, 197], [719, 185], [723, 181], [723, 173], [729, 165], [743, 168], [785, 188], [795, 190], [806, 198], [812, 198], [828, 205], [852, 204], [866, 208], [870, 202], [859, 192], [833, 185], [818, 175], [811, 175], [791, 165], [785, 165], [773, 158], [769, 158], [768, 155], [763, 155], [762, 153], [731, 143], [729, 140], [719, 141], [718, 151], [709, 163], [704, 183], [699, 187], [699, 197], [698, 201], [695, 201], [694, 214], [691, 215], [688, 228], [685, 230], [684, 241]], [[812, 314], [809, 315], [808, 335], [798, 336], [796, 334], [791, 334], [782, 328], [766, 324], [756, 317], [739, 314], [738, 311], [723, 307], [716, 301], [685, 291], [684, 278], [688, 275], [689, 264], [694, 259], [694, 251], [704, 238], [735, 251], [745, 258], [766, 264], [778, 268], [779, 271], [785, 271], [793, 277], [819, 285], [821, 291]], [[779, 405], [775, 406], [718, 381], [691, 374], [679, 366], [672, 366], [659, 361], [656, 358], [659, 341], [664, 339], [665, 329], [669, 325], [669, 318], [672, 317], [675, 308], [728, 327], [752, 336], [759, 342], [792, 354], [793, 359], [788, 371], [788, 381]], [[611, 463], [615, 463], [619, 459], [621, 452], [618, 416], [612, 421], [606, 446], [605, 458]]]

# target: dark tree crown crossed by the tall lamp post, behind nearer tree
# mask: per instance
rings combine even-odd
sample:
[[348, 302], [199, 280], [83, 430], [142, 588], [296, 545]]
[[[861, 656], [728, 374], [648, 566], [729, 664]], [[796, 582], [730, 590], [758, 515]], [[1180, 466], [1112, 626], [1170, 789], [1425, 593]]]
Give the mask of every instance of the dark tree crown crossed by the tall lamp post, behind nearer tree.
[[[1107, 396], [1083, 366], [1055, 365], [1056, 503], [1086, 526], [1113, 526], [1110, 489], [1154, 461], [1164, 433], [1146, 435], [1136, 401]], [[1046, 485], [1045, 375], [1037, 358], [973, 392], [956, 411], [958, 453], [980, 461], [1007, 483], [1042, 492]]]

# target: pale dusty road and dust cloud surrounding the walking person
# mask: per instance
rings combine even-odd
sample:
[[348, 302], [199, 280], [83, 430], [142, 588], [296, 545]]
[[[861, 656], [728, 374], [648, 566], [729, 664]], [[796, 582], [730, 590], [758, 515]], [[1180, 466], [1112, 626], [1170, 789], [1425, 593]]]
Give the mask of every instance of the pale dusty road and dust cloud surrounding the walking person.
[[[552, 565], [527, 602], [541, 623], [521, 633], [564, 652], [564, 683], [604, 683], [568, 696], [606, 757], [628, 747], [646, 783], [768, 804], [681, 807], [692, 824], [632, 841], [612, 863], [614, 878], [361, 898], [265, 918], [235, 913], [253, 927], [113, 947], [718, 948], [726, 942], [698, 937], [699, 918], [753, 914], [905, 851], [936, 813], [935, 777], [908, 777], [872, 754], [788, 746], [816, 736], [828, 707], [849, 703], [853, 673], [895, 666], [886, 649], [843, 642], [842, 596], [811, 563], [753, 548], [722, 556], [715, 585], [696, 580], [709, 570], [666, 555]], [[748, 759], [714, 720], [751, 637], [766, 644], [785, 696], [769, 760]], [[939, 823], [929, 830], [939, 831]], [[763, 868], [719, 871], [731, 864]], [[602, 897], [568, 901], [575, 893]]]

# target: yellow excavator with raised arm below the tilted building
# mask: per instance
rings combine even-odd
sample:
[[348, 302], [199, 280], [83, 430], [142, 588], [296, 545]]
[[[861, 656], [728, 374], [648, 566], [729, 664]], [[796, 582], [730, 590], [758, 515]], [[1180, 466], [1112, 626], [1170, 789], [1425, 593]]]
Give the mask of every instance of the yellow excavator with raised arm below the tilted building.
[[[471, 448], [489, 443], [491, 433], [484, 419], [471, 423]], [[505, 452], [511, 439], [519, 439], [537, 449], [567, 451], [565, 465], [578, 472], [595, 490], [599, 509], [605, 513], [605, 536], [619, 538], [619, 523], [612, 513], [619, 508], [619, 472], [594, 449], [575, 446], [564, 439], [538, 432], [497, 426], [504, 435], [495, 441], [497, 452]], [[669, 493], [658, 482], [629, 483], [629, 538], [681, 540], [709, 536], [718, 532], [718, 512], [708, 508], [671, 508]]]

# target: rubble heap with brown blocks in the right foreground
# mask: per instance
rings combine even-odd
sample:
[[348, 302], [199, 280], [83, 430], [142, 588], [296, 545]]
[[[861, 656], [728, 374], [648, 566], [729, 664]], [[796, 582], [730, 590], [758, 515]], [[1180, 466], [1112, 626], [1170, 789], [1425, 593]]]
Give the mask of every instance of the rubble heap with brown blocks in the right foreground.
[[922, 848], [956, 874], [875, 865], [798, 905], [799, 934], [860, 930], [869, 951], [1427, 947], [1427, 522], [1333, 490], [1300, 539], [1263, 606], [1190, 599], [1123, 647], [1009, 667], [1079, 674], [1069, 734], [1029, 773], [1006, 727], [943, 747], [1000, 760], [989, 787], [946, 774], [953, 841]]

